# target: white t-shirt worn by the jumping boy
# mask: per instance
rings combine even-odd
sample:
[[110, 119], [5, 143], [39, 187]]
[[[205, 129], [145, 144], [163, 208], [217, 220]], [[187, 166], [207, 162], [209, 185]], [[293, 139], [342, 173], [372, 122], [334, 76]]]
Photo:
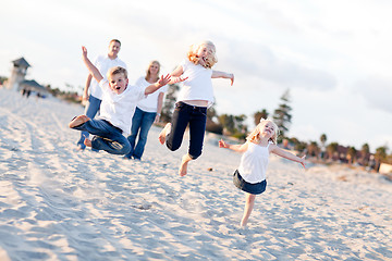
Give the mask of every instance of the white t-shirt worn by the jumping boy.
[[146, 97], [145, 88], [128, 85], [122, 94], [118, 95], [110, 89], [107, 79], [101, 79], [99, 86], [102, 90], [102, 103], [98, 119], [107, 120], [113, 126], [121, 128], [125, 137], [128, 136], [136, 104]]

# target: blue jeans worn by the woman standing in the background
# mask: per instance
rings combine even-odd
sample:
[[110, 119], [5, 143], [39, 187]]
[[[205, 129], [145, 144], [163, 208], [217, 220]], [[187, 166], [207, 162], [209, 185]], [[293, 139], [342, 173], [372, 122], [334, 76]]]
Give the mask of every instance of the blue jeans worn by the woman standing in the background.
[[[136, 107], [132, 117], [131, 135], [127, 137], [131, 145], [131, 151], [125, 156], [126, 158], [131, 159], [131, 157], [133, 157], [136, 160], [142, 159], [147, 142], [148, 132], [152, 126], [156, 115], [156, 112], [145, 112]], [[137, 133], [139, 134], [139, 137], [135, 148]]]

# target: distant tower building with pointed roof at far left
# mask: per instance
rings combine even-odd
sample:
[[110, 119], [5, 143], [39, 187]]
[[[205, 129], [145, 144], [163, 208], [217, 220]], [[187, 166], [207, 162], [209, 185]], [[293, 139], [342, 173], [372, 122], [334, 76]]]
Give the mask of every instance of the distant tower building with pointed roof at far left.
[[32, 65], [24, 58], [20, 58], [15, 61], [12, 61], [13, 69], [11, 76], [5, 84], [5, 88], [15, 90], [15, 91], [35, 91], [38, 96], [45, 97], [48, 95], [48, 90], [39, 85], [34, 79], [25, 79], [27, 74], [27, 69]]

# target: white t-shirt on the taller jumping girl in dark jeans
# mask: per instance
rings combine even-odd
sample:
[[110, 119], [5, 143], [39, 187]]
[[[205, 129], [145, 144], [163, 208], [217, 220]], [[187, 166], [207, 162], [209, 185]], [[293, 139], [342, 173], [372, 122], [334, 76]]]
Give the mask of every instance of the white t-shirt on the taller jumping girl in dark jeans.
[[182, 83], [177, 101], [207, 100], [210, 107], [213, 103], [212, 70], [188, 60], [184, 60], [180, 65], [183, 67], [182, 77], [188, 78]]

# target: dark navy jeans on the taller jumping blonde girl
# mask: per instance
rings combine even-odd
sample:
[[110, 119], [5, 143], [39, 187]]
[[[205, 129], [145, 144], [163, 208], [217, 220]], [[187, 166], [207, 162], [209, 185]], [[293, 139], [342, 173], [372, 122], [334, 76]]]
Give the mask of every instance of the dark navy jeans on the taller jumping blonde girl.
[[174, 151], [180, 148], [186, 126], [189, 124], [188, 154], [195, 160], [201, 154], [206, 132], [207, 108], [194, 107], [182, 101], [175, 103], [171, 132], [167, 137], [167, 146]]

